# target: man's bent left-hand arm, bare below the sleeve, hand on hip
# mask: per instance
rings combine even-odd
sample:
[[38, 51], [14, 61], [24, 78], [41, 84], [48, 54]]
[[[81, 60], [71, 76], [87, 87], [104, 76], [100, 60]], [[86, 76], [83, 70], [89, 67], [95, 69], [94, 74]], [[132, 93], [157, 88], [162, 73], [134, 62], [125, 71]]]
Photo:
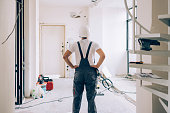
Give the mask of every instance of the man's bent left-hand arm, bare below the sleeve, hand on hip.
[[64, 55], [63, 55], [63, 59], [65, 60], [65, 62], [72, 68], [72, 69], [75, 69], [77, 68], [78, 66], [75, 65], [73, 66], [73, 64], [70, 62], [70, 60], [68, 59], [68, 57], [71, 55], [71, 52], [69, 50], [67, 50]]

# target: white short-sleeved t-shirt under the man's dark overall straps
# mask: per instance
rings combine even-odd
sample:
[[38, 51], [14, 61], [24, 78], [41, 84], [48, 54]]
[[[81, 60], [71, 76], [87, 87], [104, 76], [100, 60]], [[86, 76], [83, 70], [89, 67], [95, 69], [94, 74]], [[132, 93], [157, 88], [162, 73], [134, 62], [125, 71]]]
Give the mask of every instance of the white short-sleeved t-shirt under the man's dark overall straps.
[[[85, 58], [88, 46], [91, 41], [88, 39], [83, 39], [83, 40], [80, 40], [79, 42], [80, 42], [81, 50], [83, 53], [83, 57]], [[90, 65], [94, 65], [95, 52], [98, 49], [100, 49], [99, 45], [92, 41], [92, 45], [90, 47], [89, 56], [88, 56], [88, 61], [89, 61]], [[73, 45], [70, 46], [69, 51], [72, 53], [75, 52], [76, 65], [79, 65], [81, 56], [80, 56], [80, 51], [79, 51], [77, 42], [75, 42]]]

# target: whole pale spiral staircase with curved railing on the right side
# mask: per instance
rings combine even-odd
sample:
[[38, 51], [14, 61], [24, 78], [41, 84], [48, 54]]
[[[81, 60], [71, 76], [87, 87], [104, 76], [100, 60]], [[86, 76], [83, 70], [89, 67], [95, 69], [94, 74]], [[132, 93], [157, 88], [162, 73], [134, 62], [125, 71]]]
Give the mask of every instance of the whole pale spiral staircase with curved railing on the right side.
[[[153, 55], [153, 56], [166, 56], [170, 57], [170, 50], [151, 50], [151, 51], [144, 51], [144, 50], [136, 50], [136, 41], [138, 38], [144, 38], [144, 39], [151, 39], [151, 40], [158, 40], [163, 41], [165, 43], [170, 42], [170, 34], [161, 34], [161, 33], [152, 33], [148, 29], [146, 29], [143, 25], [141, 25], [137, 19], [135, 18], [135, 0], [133, 0], [133, 14], [129, 11], [127, 0], [124, 0], [125, 8], [130, 15], [132, 19], [132, 29], [133, 29], [133, 50], [130, 50], [129, 52], [131, 54], [139, 54], [140, 60], [142, 61], [142, 55]], [[170, 27], [170, 14], [165, 15], [159, 15], [158, 19], [162, 21], [164, 24]], [[135, 26], [138, 25], [139, 29], [143, 29], [147, 32], [147, 34], [138, 34], [136, 35]], [[139, 68], [142, 69], [149, 69], [149, 70], [157, 70], [157, 71], [165, 71], [170, 72], [170, 65], [156, 65], [156, 64], [129, 64], [129, 67], [132, 68]], [[142, 72], [140, 72], [142, 73]], [[170, 78], [168, 80], [166, 79], [155, 79], [155, 78], [144, 78], [144, 77], [138, 77], [136, 75], [132, 76], [135, 79], [139, 79], [141, 81], [140, 87], [151, 92], [152, 94], [159, 97], [159, 102], [165, 109], [167, 113], [170, 113], [170, 106], [168, 106], [168, 102], [170, 102]], [[143, 85], [142, 81], [147, 81], [150, 83], [162, 85], [159, 87], [155, 87], [154, 85]], [[164, 87], [165, 86], [165, 87]], [[169, 87], [168, 87], [169, 86]]]

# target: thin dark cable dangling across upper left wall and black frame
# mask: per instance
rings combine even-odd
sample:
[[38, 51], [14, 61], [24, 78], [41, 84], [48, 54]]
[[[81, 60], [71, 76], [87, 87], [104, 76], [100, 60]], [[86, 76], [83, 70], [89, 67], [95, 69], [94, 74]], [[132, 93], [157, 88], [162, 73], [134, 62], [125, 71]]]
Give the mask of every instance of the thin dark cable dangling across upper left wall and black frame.
[[13, 27], [11, 33], [10, 33], [10, 34], [7, 36], [7, 38], [2, 42], [2, 45], [3, 45], [4, 43], [6, 43], [6, 42], [8, 41], [8, 39], [10, 38], [10, 36], [13, 34], [13, 32], [14, 32], [14, 30], [15, 30], [15, 28], [16, 28], [16, 25], [17, 25], [18, 17], [20, 16], [21, 11], [23, 10], [23, 4], [20, 3], [20, 2], [18, 2], [18, 1], [16, 1], [16, 2], [19, 3], [22, 7], [20, 8], [20, 10], [19, 10], [19, 12], [18, 12], [18, 14], [17, 14], [17, 17], [16, 17], [16, 19], [15, 19], [15, 24], [14, 24], [14, 27]]

